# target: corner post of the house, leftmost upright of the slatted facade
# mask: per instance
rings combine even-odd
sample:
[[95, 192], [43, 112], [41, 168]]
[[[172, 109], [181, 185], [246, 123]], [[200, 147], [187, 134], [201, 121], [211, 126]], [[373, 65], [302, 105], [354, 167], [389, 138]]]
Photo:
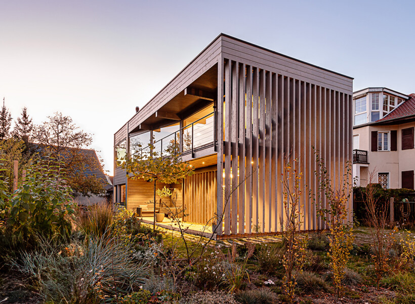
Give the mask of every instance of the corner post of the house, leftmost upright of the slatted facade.
[[218, 61], [218, 100], [217, 100], [217, 199], [216, 199], [216, 214], [218, 216], [217, 224], [219, 228], [217, 229], [217, 234], [219, 236], [222, 235], [222, 222], [220, 219], [223, 214], [223, 179], [222, 179], [222, 171], [223, 171], [223, 71], [224, 71], [224, 61], [223, 58], [220, 57]]

